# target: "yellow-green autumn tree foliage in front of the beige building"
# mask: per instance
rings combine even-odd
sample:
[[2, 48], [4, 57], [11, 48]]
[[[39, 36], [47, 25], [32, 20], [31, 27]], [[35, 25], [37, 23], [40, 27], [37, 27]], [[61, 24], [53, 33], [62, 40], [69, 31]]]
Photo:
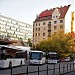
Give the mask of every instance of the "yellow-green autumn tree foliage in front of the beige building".
[[53, 34], [46, 40], [42, 40], [36, 45], [36, 49], [45, 52], [57, 52], [60, 57], [68, 56], [72, 53], [72, 47], [74, 41], [70, 34], [64, 34], [63, 31], [59, 31], [57, 34]]

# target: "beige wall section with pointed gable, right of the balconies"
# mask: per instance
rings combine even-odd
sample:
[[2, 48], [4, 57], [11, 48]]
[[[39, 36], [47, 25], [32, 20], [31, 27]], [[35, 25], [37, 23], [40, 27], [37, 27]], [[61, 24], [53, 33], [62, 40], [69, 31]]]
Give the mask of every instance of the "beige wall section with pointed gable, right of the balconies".
[[[51, 35], [54, 33], [57, 33], [58, 30], [64, 31], [64, 19], [59, 19], [60, 13], [58, 9], [56, 8], [52, 14], [52, 25], [51, 25]], [[60, 23], [60, 20], [63, 22]], [[56, 23], [54, 23], [56, 21]], [[62, 26], [62, 27], [60, 27]]]

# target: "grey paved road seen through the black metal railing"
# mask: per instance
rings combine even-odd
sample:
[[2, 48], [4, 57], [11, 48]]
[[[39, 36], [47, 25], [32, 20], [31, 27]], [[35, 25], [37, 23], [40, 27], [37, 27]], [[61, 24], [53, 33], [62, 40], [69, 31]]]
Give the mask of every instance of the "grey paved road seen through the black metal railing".
[[[67, 71], [67, 68], [63, 69], [63, 67], [64, 66], [67, 67], [67, 64], [68, 64], [68, 66], [70, 66], [70, 63], [72, 64], [72, 67], [68, 68], [68, 71], [69, 71], [70, 69], [71, 70], [73, 69], [73, 62], [65, 62], [65, 63], [58, 63], [58, 64], [45, 64], [45, 65], [39, 66], [39, 71], [47, 70], [47, 65], [48, 65], [48, 69], [49, 69], [48, 75], [53, 75], [53, 74], [58, 75], [59, 74], [59, 64], [60, 64], [60, 67], [62, 67], [60, 69], [60, 72], [62, 73], [62, 72]], [[54, 66], [56, 68], [55, 71], [53, 70]], [[74, 68], [75, 68], [75, 65], [74, 65]], [[38, 71], [38, 66], [29, 65], [28, 66], [28, 72], [33, 72], [33, 71]], [[15, 67], [12, 69], [12, 72], [13, 72], [13, 74], [25, 73], [25, 72], [27, 72], [27, 66]], [[11, 75], [11, 70], [10, 69], [0, 70], [0, 75]], [[26, 74], [23, 74], [23, 75], [26, 75]], [[38, 72], [37, 73], [31, 73], [28, 75], [38, 75]], [[47, 75], [47, 71], [40, 72], [39, 75]], [[71, 75], [73, 75], [73, 74], [71, 74]]]

